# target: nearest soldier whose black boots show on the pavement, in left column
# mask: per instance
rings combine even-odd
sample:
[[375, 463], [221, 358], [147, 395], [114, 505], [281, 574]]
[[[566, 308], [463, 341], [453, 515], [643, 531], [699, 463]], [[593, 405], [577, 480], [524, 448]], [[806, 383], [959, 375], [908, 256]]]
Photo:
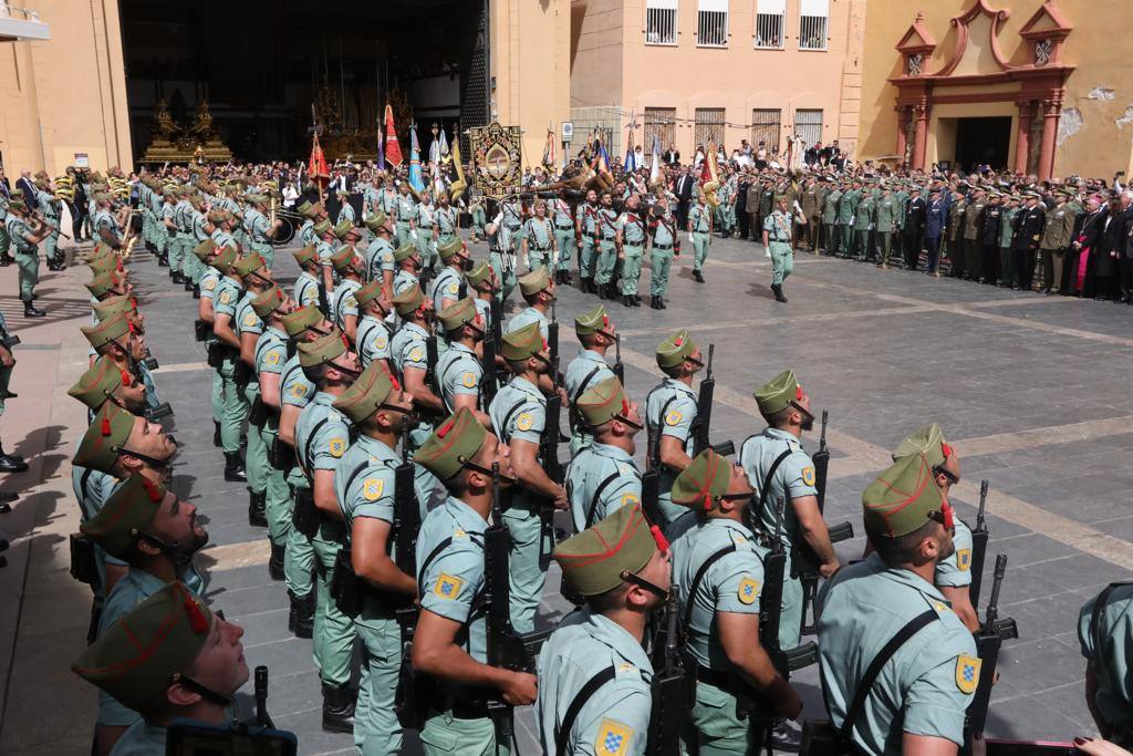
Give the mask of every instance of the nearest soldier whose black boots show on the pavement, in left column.
[[342, 510], [335, 496], [335, 472], [350, 445], [350, 430], [347, 418], [332, 405], [360, 371], [358, 356], [347, 349], [338, 332], [300, 343], [299, 364], [316, 389], [296, 421], [295, 449], [320, 513], [318, 530], [310, 543], [315, 549], [314, 649], [323, 682], [323, 729], [353, 732], [350, 656], [355, 627], [331, 597], [334, 561], [346, 543]]

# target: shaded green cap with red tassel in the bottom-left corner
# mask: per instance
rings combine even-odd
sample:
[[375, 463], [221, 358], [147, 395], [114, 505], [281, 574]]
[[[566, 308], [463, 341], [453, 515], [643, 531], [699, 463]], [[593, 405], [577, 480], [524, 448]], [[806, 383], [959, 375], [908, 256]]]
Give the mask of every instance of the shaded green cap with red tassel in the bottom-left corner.
[[142, 710], [180, 679], [208, 640], [213, 614], [184, 583], [169, 583], [103, 630], [71, 670]]

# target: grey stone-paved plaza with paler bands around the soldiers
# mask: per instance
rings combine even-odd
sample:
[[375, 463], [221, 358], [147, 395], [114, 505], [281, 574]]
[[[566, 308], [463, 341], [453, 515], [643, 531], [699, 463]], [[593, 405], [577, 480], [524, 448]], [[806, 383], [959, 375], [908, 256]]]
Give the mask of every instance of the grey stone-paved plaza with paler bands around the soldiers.
[[[483, 244], [474, 247], [485, 254]], [[698, 284], [688, 256], [674, 263], [668, 309], [610, 305], [622, 332], [631, 397], [644, 404], [659, 380], [654, 347], [689, 328], [707, 351], [716, 345], [713, 438], [738, 443], [764, 424], [751, 390], [786, 366], [828, 409], [833, 459], [827, 520], [852, 519], [859, 538], [841, 544], [843, 560], [861, 554], [860, 494], [888, 460], [888, 450], [920, 425], [938, 422], [957, 449], [962, 483], [953, 500], [972, 520], [980, 478], [988, 496], [995, 554], [1011, 558], [1000, 612], [1019, 621], [1005, 646], [989, 734], [1067, 740], [1092, 734], [1082, 698], [1084, 663], [1075, 623], [1081, 605], [1108, 581], [1133, 575], [1133, 308], [1045, 297], [932, 279], [799, 253], [777, 305], [767, 288], [769, 261], [760, 246], [714, 240]], [[299, 737], [300, 753], [347, 753], [349, 736], [320, 729], [320, 686], [310, 643], [287, 630], [282, 584], [267, 578], [267, 541], [247, 525], [242, 485], [225, 483], [212, 447], [208, 368], [193, 340], [196, 301], [173, 287], [147, 254], [131, 260], [147, 339], [161, 362], [156, 380], [176, 410], [182, 451], [174, 487], [207, 518], [204, 551], [208, 600], [244, 626], [249, 665], [266, 664], [269, 710]], [[296, 267], [279, 253], [281, 282]], [[648, 270], [642, 278], [648, 277]], [[15, 267], [0, 269], [0, 289], [15, 290]], [[0, 753], [85, 754], [95, 694], [69, 672], [84, 644], [90, 592], [67, 575], [67, 534], [77, 527], [69, 458], [84, 414], [66, 390], [86, 364], [79, 325], [90, 317], [83, 266], [45, 277], [40, 306], [50, 316], [29, 325], [7, 294], [0, 303], [24, 343], [2, 418], [9, 450], [32, 469], [3, 486], [22, 491], [0, 515], [0, 537], [12, 542], [0, 569]], [[644, 290], [644, 289], [642, 289]], [[596, 300], [560, 288], [563, 356], [577, 350], [571, 320]], [[811, 452], [816, 433], [804, 439]], [[638, 458], [642, 457], [644, 435]], [[565, 449], [563, 451], [565, 453]], [[565, 602], [548, 579], [543, 618]], [[985, 581], [985, 603], [990, 576]], [[821, 716], [816, 668], [795, 678], [808, 716]], [[537, 753], [529, 712], [519, 712], [522, 754]], [[411, 750], [417, 749], [411, 741]]]

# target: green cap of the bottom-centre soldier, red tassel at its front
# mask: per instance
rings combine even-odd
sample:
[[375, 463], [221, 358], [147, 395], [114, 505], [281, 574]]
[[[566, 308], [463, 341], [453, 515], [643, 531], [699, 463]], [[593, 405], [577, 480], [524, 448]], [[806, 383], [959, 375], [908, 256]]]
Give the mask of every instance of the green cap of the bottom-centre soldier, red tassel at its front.
[[641, 570], [655, 553], [649, 521], [634, 504], [566, 538], [551, 555], [576, 592], [597, 596], [621, 585], [623, 572]]

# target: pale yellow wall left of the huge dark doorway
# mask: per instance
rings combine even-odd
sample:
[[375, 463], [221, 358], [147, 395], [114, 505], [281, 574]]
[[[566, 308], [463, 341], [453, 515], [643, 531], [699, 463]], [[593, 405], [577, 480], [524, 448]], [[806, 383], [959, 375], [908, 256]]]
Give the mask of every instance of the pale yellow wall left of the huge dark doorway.
[[131, 168], [117, 0], [22, 0], [51, 39], [0, 44], [0, 150], [20, 170]]

